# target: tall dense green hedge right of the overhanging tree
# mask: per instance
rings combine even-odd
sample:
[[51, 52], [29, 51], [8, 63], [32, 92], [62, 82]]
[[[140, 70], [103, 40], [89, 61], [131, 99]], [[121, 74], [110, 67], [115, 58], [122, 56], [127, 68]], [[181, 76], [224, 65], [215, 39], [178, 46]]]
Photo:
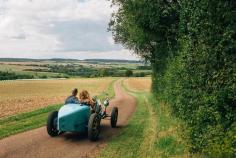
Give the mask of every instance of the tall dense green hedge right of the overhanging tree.
[[[179, 55], [166, 70], [174, 113], [188, 124], [193, 151], [236, 152], [236, 3], [181, 2]], [[171, 68], [171, 66], [175, 67]], [[176, 81], [178, 80], [178, 81]]]

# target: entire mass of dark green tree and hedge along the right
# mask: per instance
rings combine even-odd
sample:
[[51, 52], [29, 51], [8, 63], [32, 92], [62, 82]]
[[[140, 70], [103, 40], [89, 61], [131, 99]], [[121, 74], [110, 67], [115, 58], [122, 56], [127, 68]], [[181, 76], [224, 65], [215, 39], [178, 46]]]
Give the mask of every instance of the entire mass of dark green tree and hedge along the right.
[[153, 67], [153, 93], [187, 125], [192, 152], [236, 153], [236, 1], [113, 0], [117, 42]]

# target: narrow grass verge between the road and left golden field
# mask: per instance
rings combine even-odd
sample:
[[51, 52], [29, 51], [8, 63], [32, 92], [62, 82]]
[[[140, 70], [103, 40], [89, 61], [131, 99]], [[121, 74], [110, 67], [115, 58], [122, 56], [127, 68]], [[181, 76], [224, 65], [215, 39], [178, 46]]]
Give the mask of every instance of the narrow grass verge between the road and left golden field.
[[[114, 82], [111, 82], [106, 92], [112, 98], [115, 96], [114, 92]], [[104, 94], [102, 93], [99, 98], [103, 98]], [[48, 114], [51, 111], [58, 110], [62, 104], [48, 106], [46, 108], [41, 108], [31, 112], [26, 112], [22, 114], [17, 114], [14, 116], [6, 117], [0, 119], [0, 139], [8, 137], [13, 134], [20, 132], [25, 132], [31, 129], [39, 128], [45, 125]]]

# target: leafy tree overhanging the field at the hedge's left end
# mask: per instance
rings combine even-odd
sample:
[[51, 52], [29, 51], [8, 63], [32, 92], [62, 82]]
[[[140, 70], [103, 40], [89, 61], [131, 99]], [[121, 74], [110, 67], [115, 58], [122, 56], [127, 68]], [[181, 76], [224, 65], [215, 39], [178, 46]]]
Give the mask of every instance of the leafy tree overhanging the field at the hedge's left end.
[[167, 59], [177, 54], [179, 3], [176, 0], [113, 0], [119, 6], [110, 22], [116, 42], [152, 65], [153, 91], [163, 91]]

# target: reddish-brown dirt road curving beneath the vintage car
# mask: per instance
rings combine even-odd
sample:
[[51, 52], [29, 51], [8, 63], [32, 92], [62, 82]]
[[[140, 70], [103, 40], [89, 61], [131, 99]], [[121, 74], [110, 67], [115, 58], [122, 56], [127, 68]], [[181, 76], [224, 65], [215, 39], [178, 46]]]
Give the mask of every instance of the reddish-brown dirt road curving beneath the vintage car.
[[120, 80], [115, 82], [114, 89], [116, 96], [111, 100], [110, 105], [119, 108], [118, 127], [111, 128], [109, 120], [102, 120], [99, 141], [90, 142], [85, 136], [78, 133], [66, 133], [51, 138], [48, 136], [46, 128], [42, 127], [0, 140], [0, 158], [95, 157], [106, 141], [127, 124], [135, 110], [135, 98], [121, 89]]

